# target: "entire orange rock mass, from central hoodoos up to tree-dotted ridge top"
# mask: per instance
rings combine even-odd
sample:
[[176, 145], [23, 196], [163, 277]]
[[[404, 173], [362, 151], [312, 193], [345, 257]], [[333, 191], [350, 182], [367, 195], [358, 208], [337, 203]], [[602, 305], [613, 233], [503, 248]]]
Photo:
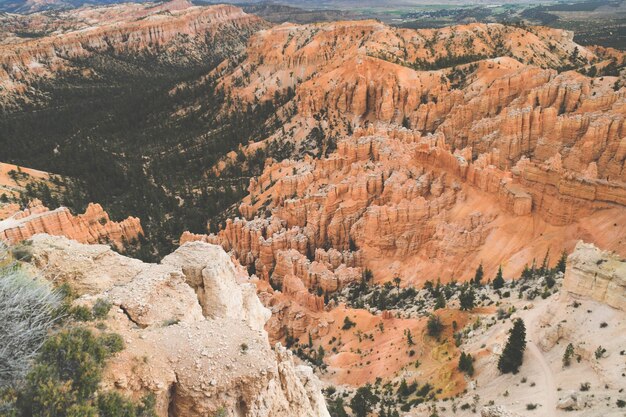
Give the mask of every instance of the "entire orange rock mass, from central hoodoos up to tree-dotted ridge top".
[[483, 262], [488, 275], [503, 264], [515, 276], [581, 235], [626, 254], [625, 90], [617, 77], [556, 71], [607, 56], [572, 39], [374, 21], [255, 34], [246, 59], [214, 75], [243, 101], [291, 88], [283, 110], [295, 115], [250, 148], [291, 140], [300, 161], [266, 164], [239, 207], [245, 219], [181, 240], [218, 243], [260, 278], [281, 284], [288, 272], [313, 293], [364, 268], [423, 282], [466, 279]]

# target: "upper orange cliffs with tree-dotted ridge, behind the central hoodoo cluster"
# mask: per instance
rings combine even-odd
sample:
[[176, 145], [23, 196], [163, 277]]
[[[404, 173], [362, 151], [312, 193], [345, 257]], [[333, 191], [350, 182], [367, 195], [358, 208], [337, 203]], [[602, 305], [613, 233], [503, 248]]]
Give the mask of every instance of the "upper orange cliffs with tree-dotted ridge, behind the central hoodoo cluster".
[[368, 122], [402, 124], [442, 134], [452, 151], [471, 147], [472, 159], [497, 149], [491, 163], [500, 169], [559, 154], [565, 169], [624, 182], [619, 78], [555, 70], [623, 65], [624, 55], [588, 50], [571, 35], [491, 24], [284, 24], [254, 35], [242, 63], [225, 61], [213, 75], [244, 102], [292, 91], [283, 110], [295, 116], [269, 141], [294, 141], [301, 153], [321, 148], [307, 143], [314, 128], [336, 138]]

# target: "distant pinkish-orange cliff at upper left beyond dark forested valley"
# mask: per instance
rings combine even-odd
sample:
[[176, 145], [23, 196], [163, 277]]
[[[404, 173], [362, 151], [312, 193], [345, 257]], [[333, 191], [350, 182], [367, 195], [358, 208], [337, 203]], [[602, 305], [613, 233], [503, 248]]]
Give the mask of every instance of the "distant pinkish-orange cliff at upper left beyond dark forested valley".
[[[268, 26], [234, 6], [200, 7], [185, 0], [8, 15], [0, 21], [0, 104], [9, 109], [33, 94], [33, 81], [64, 75], [98, 78], [90, 58], [153, 59], [155, 65], [169, 67], [219, 62]], [[14, 34], [24, 30], [37, 34], [36, 39]]]

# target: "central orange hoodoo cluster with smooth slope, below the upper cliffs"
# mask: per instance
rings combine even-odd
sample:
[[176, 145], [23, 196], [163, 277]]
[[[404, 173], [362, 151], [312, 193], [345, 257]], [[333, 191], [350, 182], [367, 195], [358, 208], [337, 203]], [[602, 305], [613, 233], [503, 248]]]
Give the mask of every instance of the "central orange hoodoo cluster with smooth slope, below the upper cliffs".
[[572, 248], [576, 233], [626, 252], [623, 222], [608, 222], [626, 216], [623, 184], [527, 159], [506, 171], [498, 157], [472, 161], [470, 149], [452, 152], [438, 135], [357, 130], [327, 158], [267, 165], [239, 208], [247, 220], [181, 241], [218, 243], [266, 281], [292, 274], [322, 293], [365, 268], [379, 281], [417, 283], [466, 279], [483, 262], [488, 275], [503, 264], [515, 276], [549, 247]]

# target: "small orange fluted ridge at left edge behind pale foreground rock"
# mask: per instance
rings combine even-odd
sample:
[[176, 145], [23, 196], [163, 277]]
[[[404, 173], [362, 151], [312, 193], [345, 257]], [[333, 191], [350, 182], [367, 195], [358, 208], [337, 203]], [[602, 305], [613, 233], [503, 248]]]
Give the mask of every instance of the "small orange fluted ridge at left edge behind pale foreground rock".
[[135, 217], [114, 222], [99, 204], [89, 204], [84, 214], [74, 216], [61, 207], [49, 210], [40, 202], [0, 220], [0, 240], [18, 243], [38, 233], [65, 236], [81, 243], [110, 243], [123, 249], [143, 234]]

